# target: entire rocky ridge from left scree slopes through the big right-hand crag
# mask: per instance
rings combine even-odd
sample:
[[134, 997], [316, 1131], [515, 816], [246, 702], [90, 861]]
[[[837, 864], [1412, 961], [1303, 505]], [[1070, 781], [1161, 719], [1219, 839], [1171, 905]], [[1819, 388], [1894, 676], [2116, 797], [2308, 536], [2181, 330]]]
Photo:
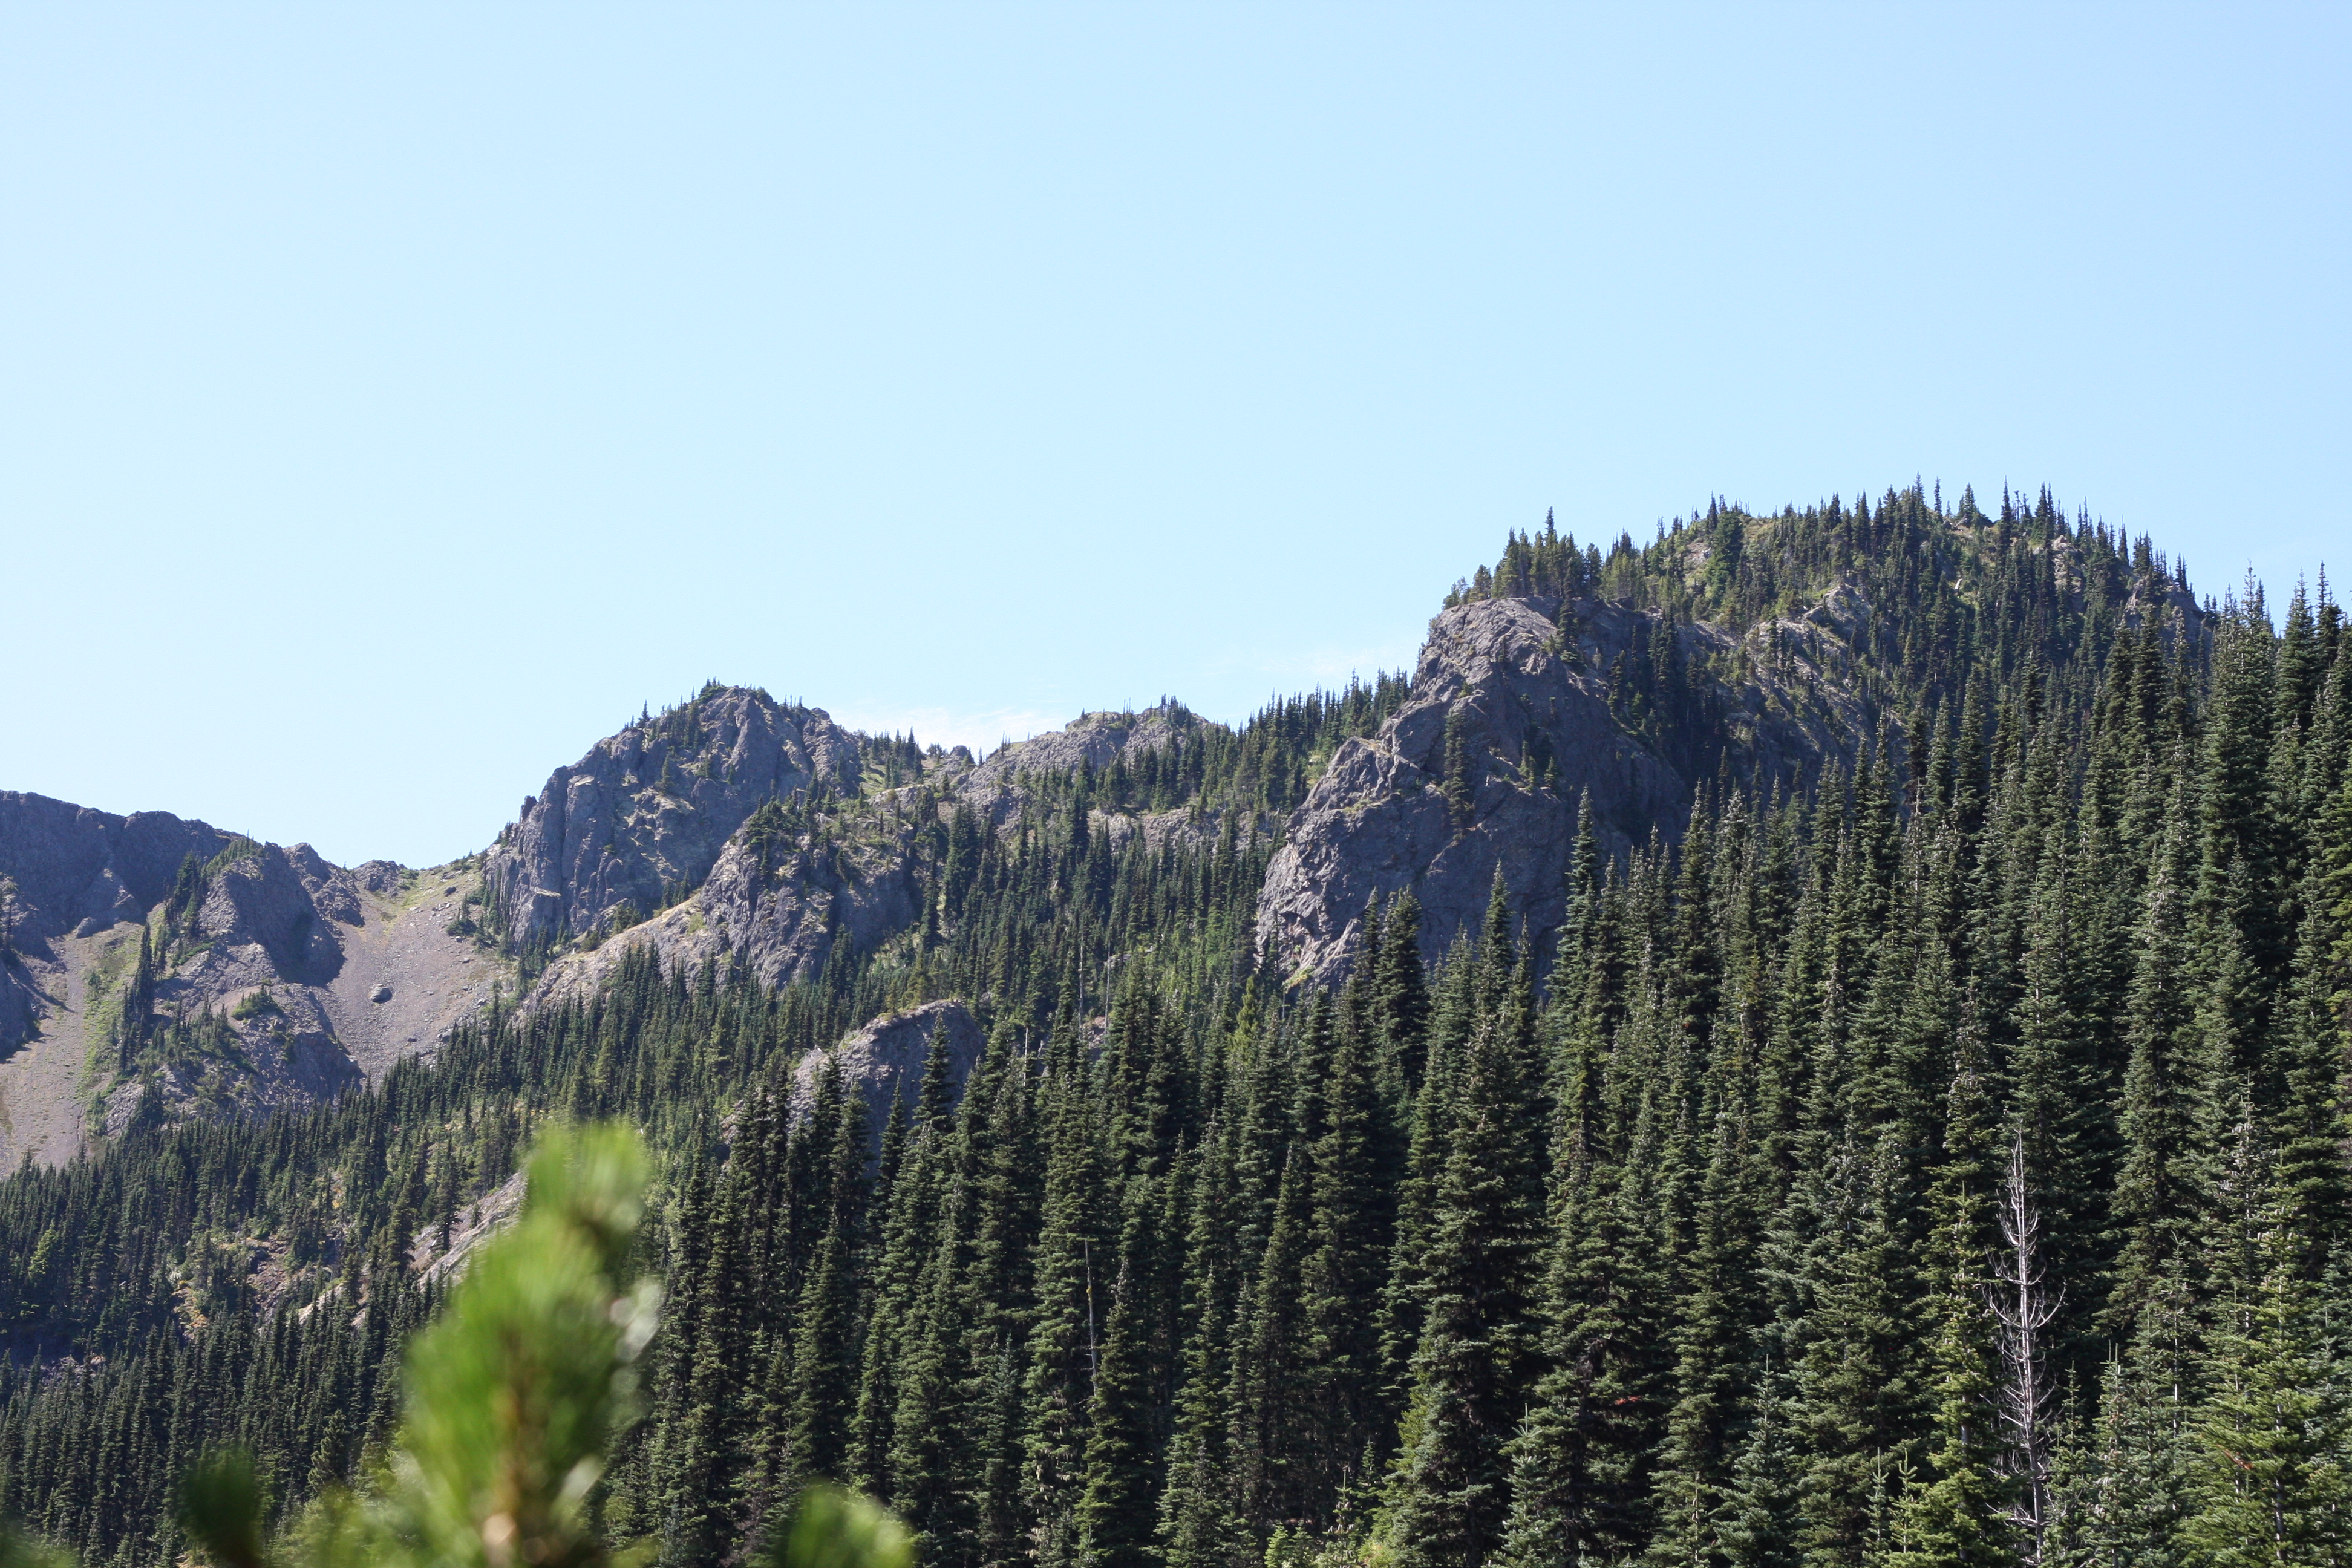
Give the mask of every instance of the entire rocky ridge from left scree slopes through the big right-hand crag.
[[[1164, 701], [976, 759], [710, 684], [597, 741], [482, 853], [428, 872], [0, 795], [0, 1157], [59, 1159], [141, 1117], [332, 1098], [433, 1051], [492, 994], [588, 997], [633, 947], [673, 971], [729, 961], [814, 983], [929, 940], [985, 844], [1040, 832], [1049, 811], [1068, 820], [1073, 799], [1084, 835], [1120, 851], [1275, 846], [1254, 940], [1294, 983], [1345, 973], [1371, 900], [1406, 889], [1430, 957], [1496, 877], [1515, 922], [1543, 933], [1581, 813], [1609, 856], [1675, 842], [1700, 788], [1806, 790], [1879, 736], [1900, 745], [1893, 719], [1922, 719], [1889, 710], [1903, 639], [1875, 597], [1879, 564], [1809, 567], [1783, 527], [1710, 517], [1606, 559], [1512, 536], [1430, 621], [1411, 679], [1383, 677], [1369, 705], [1352, 693], [1359, 722], [1324, 719], [1312, 750], [1303, 710], [1232, 729]], [[1983, 581], [1992, 552], [1976, 541], [1994, 527], [2009, 524], [1964, 498], [1912, 529], [1912, 548], [1945, 552], [1912, 581], [1966, 567], [1969, 592], [2011, 592]], [[1745, 550], [1755, 578], [1769, 545], [1804, 590], [1726, 602], [1726, 569]], [[2060, 611], [2197, 616], [2161, 571], [2103, 604], [2063, 536], [2020, 559], [2039, 559]]]

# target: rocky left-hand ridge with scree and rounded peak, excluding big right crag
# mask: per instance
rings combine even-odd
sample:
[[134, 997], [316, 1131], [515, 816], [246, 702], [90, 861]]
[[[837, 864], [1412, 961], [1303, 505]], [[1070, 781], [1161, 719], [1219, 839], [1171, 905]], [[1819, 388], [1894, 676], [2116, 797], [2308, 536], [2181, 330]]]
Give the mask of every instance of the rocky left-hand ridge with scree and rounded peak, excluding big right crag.
[[[1171, 783], [1096, 809], [1096, 830], [1214, 837], [1230, 806], [1148, 799], [1178, 788], [1188, 745], [1230, 741], [1164, 703], [974, 764], [713, 684], [550, 773], [485, 851], [423, 870], [0, 792], [0, 1159], [329, 1103], [430, 1056], [496, 994], [532, 1009], [593, 992], [630, 947], [811, 980], [837, 947], [917, 929], [950, 842], [1018, 830], [1033, 778], [1164, 766]], [[1251, 811], [1251, 830], [1279, 818]]]

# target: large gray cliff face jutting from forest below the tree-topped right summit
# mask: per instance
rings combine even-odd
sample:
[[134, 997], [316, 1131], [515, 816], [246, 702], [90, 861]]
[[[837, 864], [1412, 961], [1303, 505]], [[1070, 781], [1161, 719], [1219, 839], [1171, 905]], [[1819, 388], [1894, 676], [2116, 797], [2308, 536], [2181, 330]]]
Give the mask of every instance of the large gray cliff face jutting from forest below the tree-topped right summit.
[[[1823, 658], [1865, 616], [1849, 588], [1832, 592], [1816, 625]], [[1769, 632], [1757, 628], [1748, 644]], [[1258, 898], [1261, 947], [1287, 973], [1331, 980], [1362, 940], [1371, 898], [1414, 889], [1435, 957], [1477, 929], [1498, 867], [1519, 926], [1550, 931], [1564, 914], [1581, 802], [1602, 849], [1623, 856], [1651, 832], [1679, 839], [1693, 785], [1719, 766], [1795, 783], [1860, 733], [1851, 693], [1820, 665], [1792, 663], [1750, 670], [1736, 686], [1693, 682], [1684, 710], [1644, 738], [1611, 705], [1611, 679], [1621, 658], [1653, 658], [1668, 637], [1691, 670], [1743, 649], [1705, 623], [1668, 628], [1592, 599], [1479, 599], [1439, 614], [1411, 703], [1374, 738], [1343, 743], [1291, 813]]]

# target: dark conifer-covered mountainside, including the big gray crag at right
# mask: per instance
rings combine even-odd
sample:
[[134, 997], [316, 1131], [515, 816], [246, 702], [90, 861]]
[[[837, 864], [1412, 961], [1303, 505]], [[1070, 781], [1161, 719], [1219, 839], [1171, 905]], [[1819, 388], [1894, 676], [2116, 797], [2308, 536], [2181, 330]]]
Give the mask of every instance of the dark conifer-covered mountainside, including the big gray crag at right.
[[[532, 806], [447, 872], [501, 985], [315, 1091], [238, 1077], [294, 980], [174, 1004], [259, 849], [191, 853], [89, 1138], [0, 1180], [0, 1512], [165, 1568], [214, 1450], [273, 1528], [379, 1486], [463, 1244], [626, 1124], [633, 1561], [837, 1481], [936, 1568], [2352, 1563], [2326, 578], [1912, 484], [1545, 522], [1437, 609], [1103, 764], [842, 741], [593, 919], [499, 872]], [[731, 788], [729, 691], [628, 731], [647, 799]], [[760, 947], [720, 884], [833, 914]], [[906, 1072], [837, 1048], [908, 1016]]]

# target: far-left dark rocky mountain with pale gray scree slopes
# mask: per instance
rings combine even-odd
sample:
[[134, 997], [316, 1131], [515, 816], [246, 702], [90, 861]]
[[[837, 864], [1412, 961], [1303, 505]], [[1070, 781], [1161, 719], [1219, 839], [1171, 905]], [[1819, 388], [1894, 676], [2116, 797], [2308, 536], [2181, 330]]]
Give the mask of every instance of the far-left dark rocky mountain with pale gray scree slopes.
[[332, 1100], [513, 971], [449, 929], [442, 875], [334, 867], [160, 811], [0, 792], [0, 900], [7, 1159]]

